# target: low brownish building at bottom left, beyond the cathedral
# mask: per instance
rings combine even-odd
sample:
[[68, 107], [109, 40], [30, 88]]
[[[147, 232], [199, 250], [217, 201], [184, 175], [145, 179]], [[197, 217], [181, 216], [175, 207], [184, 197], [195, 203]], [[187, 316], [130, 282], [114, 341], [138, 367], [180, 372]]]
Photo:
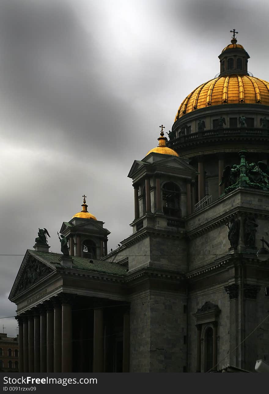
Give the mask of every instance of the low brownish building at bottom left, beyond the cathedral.
[[18, 359], [18, 335], [0, 333], [0, 372], [19, 372]]

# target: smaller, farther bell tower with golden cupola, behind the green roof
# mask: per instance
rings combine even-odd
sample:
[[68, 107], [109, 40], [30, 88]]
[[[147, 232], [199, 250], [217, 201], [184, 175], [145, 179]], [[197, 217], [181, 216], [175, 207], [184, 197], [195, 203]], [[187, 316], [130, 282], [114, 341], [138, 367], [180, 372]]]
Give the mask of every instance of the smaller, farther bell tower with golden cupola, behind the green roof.
[[70, 256], [99, 259], [107, 255], [107, 236], [110, 232], [103, 228], [103, 221], [88, 212], [87, 196], [84, 194], [82, 197], [82, 210], [69, 222], [63, 222], [60, 232], [68, 239]]

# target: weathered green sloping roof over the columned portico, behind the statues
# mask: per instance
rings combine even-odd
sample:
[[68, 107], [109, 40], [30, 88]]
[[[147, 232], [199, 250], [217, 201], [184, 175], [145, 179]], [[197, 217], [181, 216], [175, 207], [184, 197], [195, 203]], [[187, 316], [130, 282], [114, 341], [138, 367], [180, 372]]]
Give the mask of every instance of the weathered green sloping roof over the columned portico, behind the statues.
[[[59, 258], [63, 255], [60, 253], [41, 252], [28, 249], [33, 256], [39, 256], [42, 260], [53, 264], [55, 268], [63, 268], [59, 262]], [[117, 263], [112, 263], [105, 260], [89, 259], [85, 257], [72, 256], [73, 267], [70, 269], [85, 269], [86, 271], [94, 271], [99, 273], [106, 273], [110, 275], [124, 276], [127, 271], [126, 268]], [[92, 261], [92, 262], [90, 262]]]

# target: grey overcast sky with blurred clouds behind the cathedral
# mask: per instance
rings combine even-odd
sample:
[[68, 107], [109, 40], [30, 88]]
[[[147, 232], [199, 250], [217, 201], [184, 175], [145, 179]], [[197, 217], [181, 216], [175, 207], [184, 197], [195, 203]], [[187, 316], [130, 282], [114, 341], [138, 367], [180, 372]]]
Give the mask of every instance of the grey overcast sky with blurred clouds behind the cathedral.
[[[1, 254], [24, 255], [39, 227], [59, 231], [88, 210], [131, 234], [135, 159], [171, 129], [182, 100], [219, 72], [236, 28], [249, 70], [269, 80], [263, 0], [1, 0]], [[0, 316], [22, 256], [0, 256]], [[1, 319], [15, 335], [14, 319]]]

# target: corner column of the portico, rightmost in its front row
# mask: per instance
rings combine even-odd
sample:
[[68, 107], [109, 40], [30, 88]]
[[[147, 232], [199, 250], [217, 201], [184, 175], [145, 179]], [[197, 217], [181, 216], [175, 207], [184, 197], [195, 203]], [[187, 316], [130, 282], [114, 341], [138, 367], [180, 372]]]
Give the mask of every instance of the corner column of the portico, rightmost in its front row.
[[62, 372], [72, 372], [72, 306], [62, 297]]

